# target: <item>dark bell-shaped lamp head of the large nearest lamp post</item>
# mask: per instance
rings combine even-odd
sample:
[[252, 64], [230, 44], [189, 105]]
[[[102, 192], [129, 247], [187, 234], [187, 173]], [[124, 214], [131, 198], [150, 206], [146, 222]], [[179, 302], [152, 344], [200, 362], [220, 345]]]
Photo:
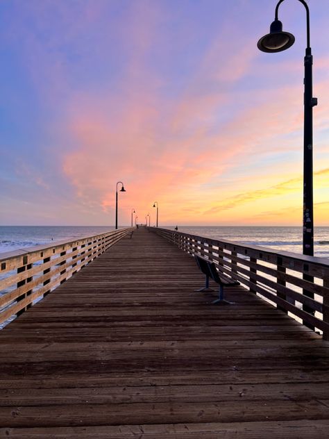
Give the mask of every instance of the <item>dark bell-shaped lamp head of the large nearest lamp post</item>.
[[282, 31], [282, 23], [276, 19], [271, 24], [269, 33], [260, 38], [257, 43], [258, 49], [262, 52], [275, 53], [282, 52], [295, 42], [295, 37], [292, 33]]

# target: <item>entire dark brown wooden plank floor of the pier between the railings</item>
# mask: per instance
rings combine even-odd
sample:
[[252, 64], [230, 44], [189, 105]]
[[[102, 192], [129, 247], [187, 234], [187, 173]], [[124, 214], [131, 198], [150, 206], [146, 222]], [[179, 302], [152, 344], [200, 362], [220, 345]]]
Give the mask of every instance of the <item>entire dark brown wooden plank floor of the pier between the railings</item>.
[[0, 333], [1, 438], [329, 438], [329, 344], [139, 229]]

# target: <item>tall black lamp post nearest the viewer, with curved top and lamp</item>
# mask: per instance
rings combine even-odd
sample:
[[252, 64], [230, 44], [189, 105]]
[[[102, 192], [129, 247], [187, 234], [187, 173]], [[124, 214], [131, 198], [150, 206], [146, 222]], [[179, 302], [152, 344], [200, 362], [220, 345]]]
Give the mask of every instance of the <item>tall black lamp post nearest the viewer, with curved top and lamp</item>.
[[[282, 23], [278, 19], [278, 8], [284, 0], [276, 5], [276, 16], [267, 35], [258, 41], [258, 49], [263, 52], [280, 52], [294, 44], [292, 33], [282, 31]], [[312, 51], [310, 47], [310, 11], [304, 0], [298, 0], [306, 9], [307, 47], [304, 66], [304, 177], [303, 177], [303, 254], [313, 256], [313, 107], [317, 98], [312, 97]]]

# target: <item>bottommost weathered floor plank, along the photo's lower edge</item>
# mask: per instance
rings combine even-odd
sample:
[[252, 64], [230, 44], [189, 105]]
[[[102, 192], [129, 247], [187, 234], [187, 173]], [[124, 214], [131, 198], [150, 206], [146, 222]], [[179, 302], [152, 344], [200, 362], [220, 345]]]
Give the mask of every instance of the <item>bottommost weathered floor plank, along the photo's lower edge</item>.
[[0, 429], [0, 435], [12, 439], [326, 439], [328, 429], [327, 420], [301, 420]]

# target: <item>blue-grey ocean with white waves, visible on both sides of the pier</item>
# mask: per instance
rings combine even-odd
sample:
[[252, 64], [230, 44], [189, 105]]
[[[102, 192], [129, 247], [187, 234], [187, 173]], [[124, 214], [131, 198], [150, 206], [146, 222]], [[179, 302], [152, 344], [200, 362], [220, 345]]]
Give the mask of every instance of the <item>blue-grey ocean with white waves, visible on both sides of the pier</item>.
[[[164, 226], [174, 229], [174, 226]], [[71, 240], [114, 230], [110, 226], [0, 226], [0, 254], [59, 240]], [[178, 231], [244, 245], [261, 245], [277, 251], [302, 253], [301, 227], [178, 226]], [[314, 228], [314, 256], [329, 258], [329, 227]]]

